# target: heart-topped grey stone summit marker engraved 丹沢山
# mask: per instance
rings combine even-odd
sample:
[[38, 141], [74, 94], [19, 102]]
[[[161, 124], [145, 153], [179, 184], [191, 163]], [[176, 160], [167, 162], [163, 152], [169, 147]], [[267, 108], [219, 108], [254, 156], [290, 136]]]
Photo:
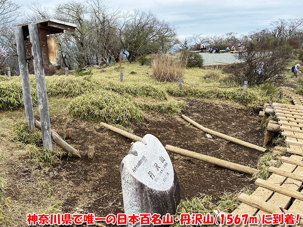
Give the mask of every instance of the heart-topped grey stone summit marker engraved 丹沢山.
[[155, 136], [146, 134], [141, 142], [135, 142], [120, 169], [126, 215], [175, 214], [181, 199], [178, 177]]

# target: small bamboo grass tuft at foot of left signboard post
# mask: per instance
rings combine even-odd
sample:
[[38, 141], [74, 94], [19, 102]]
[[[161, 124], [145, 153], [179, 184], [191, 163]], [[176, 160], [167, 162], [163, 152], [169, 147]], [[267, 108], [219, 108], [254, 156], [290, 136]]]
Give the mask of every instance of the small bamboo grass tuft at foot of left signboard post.
[[27, 129], [26, 120], [18, 120], [16, 123], [11, 124], [12, 139], [15, 142], [24, 144], [41, 145], [42, 134], [39, 131], [29, 131]]

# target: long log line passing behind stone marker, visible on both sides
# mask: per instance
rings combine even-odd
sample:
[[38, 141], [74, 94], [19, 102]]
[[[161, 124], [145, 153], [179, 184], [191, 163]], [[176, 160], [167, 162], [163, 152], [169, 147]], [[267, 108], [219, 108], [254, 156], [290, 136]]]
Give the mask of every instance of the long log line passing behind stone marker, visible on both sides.
[[[142, 140], [141, 137], [138, 137], [138, 136], [136, 136], [132, 133], [128, 133], [126, 131], [118, 129], [118, 128], [116, 128], [114, 126], [111, 126], [109, 124], [106, 124], [106, 123], [102, 122], [101, 125], [105, 128], [108, 128], [108, 129], [110, 129], [114, 132], [119, 133], [122, 136], [125, 136], [128, 139], [131, 139], [131, 140], [134, 140], [134, 141], [141, 141]], [[221, 160], [221, 159], [218, 159], [218, 158], [214, 158], [214, 157], [211, 157], [211, 156], [208, 156], [208, 155], [199, 154], [199, 153], [189, 151], [189, 150], [184, 150], [184, 149], [181, 149], [181, 148], [178, 148], [178, 147], [175, 147], [175, 146], [166, 145], [165, 149], [167, 151], [170, 151], [170, 152], [173, 152], [173, 153], [176, 153], [176, 154], [180, 154], [180, 155], [183, 155], [183, 156], [186, 156], [186, 157], [201, 160], [201, 161], [211, 163], [211, 164], [214, 164], [216, 166], [221, 166], [221, 167], [226, 168], [226, 169], [231, 169], [231, 170], [234, 170], [234, 171], [237, 171], [237, 172], [240, 172], [240, 173], [253, 174], [253, 173], [256, 173], [258, 171], [257, 169], [253, 169], [253, 168], [248, 167], [248, 166], [242, 166], [240, 164], [231, 163], [231, 162]]]

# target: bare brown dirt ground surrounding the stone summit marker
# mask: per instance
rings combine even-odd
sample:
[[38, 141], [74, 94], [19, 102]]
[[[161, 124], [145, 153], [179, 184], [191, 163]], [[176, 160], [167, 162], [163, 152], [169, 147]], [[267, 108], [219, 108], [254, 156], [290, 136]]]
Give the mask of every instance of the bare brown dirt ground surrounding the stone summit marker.
[[[264, 134], [258, 129], [261, 120], [222, 104], [194, 98], [184, 114], [212, 130], [261, 145]], [[132, 141], [102, 127], [72, 120], [69, 123], [51, 119], [52, 129], [64, 138], [66, 128], [73, 129], [71, 140], [82, 158], [63, 158], [63, 163], [50, 174], [52, 189], [63, 203], [64, 212], [94, 212], [95, 215], [123, 212], [120, 163], [127, 155]], [[178, 146], [231, 162], [256, 167], [263, 153], [219, 138], [208, 139], [204, 132], [191, 126], [179, 116], [148, 114], [145, 125], [134, 130], [143, 137], [151, 133], [165, 146]], [[95, 146], [92, 160], [85, 155], [89, 145]], [[213, 195], [213, 202], [225, 193], [236, 192], [253, 185], [250, 175], [217, 167], [199, 160], [169, 153], [181, 187], [181, 198], [191, 199], [200, 193]]]

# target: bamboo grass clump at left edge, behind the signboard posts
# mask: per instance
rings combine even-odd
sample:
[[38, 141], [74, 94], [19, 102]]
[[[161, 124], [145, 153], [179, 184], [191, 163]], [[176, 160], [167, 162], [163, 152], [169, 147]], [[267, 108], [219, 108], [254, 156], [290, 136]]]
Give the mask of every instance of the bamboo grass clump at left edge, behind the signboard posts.
[[[33, 105], [38, 104], [35, 88], [31, 88]], [[15, 110], [23, 107], [23, 93], [20, 81], [0, 81], [0, 110]]]

